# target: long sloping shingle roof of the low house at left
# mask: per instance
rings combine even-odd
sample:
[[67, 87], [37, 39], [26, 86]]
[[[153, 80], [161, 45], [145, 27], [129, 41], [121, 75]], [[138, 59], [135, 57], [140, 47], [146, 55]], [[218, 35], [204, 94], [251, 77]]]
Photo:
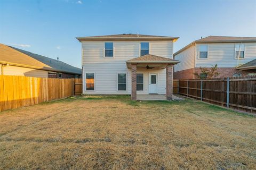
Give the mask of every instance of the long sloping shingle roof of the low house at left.
[[0, 44], [0, 63], [63, 73], [82, 73], [81, 69], [67, 63], [4, 44]]

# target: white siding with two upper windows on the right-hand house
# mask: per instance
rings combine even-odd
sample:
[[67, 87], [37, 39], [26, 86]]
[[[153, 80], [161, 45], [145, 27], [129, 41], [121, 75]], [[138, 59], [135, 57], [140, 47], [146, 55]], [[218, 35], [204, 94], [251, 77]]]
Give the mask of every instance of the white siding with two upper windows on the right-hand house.
[[235, 59], [235, 43], [209, 43], [208, 58], [198, 59], [199, 45], [196, 45], [196, 67], [211, 67], [217, 64], [218, 67], [236, 67], [256, 58], [256, 43], [244, 44], [244, 58], [241, 60]]

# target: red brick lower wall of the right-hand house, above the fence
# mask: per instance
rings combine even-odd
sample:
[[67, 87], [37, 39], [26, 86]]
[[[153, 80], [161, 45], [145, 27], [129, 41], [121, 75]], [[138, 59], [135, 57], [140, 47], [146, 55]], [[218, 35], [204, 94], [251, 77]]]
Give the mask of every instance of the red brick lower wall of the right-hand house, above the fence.
[[[217, 71], [220, 73], [218, 77], [215, 78], [226, 78], [226, 77], [233, 77], [234, 73], [241, 73], [242, 76], [247, 76], [248, 73], [256, 73], [256, 70], [244, 70], [239, 71], [236, 68], [218, 68]], [[182, 71], [177, 71], [173, 73], [173, 79], [193, 79], [194, 69], [187, 69]], [[195, 73], [201, 73], [200, 68], [195, 68]], [[196, 78], [196, 77], [195, 77]]]

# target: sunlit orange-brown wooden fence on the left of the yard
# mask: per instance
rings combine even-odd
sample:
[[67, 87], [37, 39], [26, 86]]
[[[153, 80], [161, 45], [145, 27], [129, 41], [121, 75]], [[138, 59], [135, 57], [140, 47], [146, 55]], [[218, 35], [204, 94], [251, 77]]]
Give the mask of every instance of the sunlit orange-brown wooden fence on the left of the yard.
[[0, 75], [0, 111], [72, 96], [74, 82], [79, 80]]

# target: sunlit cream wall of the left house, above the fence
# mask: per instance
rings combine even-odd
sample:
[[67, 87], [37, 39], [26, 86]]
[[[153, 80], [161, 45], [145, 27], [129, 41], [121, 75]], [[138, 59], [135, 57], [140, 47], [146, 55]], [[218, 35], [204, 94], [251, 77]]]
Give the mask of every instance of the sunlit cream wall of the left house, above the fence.
[[45, 70], [36, 70], [29, 69], [26, 67], [18, 67], [18, 66], [4, 66], [3, 67], [3, 75], [22, 75], [27, 77], [39, 77], [39, 78], [47, 78], [47, 71]]

